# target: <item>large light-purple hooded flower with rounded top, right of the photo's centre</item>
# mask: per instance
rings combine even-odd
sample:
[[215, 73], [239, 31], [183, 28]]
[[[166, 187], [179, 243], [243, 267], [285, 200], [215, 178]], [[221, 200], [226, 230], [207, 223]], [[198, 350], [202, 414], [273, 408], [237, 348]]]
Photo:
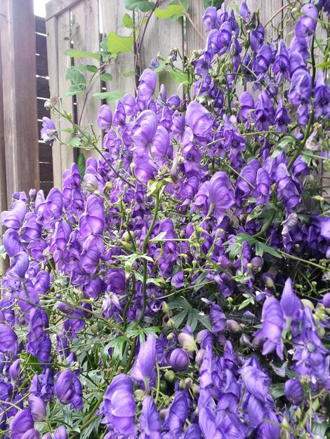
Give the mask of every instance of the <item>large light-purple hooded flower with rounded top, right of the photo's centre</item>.
[[234, 191], [230, 180], [223, 171], [214, 174], [209, 184], [209, 202], [214, 206], [218, 224], [223, 220], [225, 211], [235, 204]]

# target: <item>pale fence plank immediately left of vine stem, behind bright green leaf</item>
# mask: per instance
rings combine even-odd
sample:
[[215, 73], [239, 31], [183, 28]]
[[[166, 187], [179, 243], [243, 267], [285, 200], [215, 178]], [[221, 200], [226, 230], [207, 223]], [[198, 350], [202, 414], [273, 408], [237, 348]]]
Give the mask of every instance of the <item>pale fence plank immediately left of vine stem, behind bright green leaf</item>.
[[[120, 36], [131, 36], [131, 29], [121, 27], [121, 22], [126, 11], [124, 1], [110, 2], [100, 0], [100, 15], [102, 17], [103, 34], [116, 32]], [[124, 73], [133, 72], [134, 55], [132, 53], [119, 53], [117, 59], [107, 67], [107, 73], [112, 74], [112, 81], [107, 82], [107, 91], [122, 91], [134, 95], [134, 76], [126, 78]], [[113, 106], [114, 107], [114, 106]]]

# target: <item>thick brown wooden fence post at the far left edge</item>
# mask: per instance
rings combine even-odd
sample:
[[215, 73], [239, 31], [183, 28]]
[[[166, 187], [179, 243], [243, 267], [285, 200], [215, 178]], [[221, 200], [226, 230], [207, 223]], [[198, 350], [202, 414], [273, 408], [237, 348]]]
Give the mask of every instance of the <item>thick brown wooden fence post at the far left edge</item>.
[[15, 191], [39, 189], [35, 33], [32, 0], [3, 0], [1, 8], [1, 41], [6, 41], [1, 58], [9, 202]]

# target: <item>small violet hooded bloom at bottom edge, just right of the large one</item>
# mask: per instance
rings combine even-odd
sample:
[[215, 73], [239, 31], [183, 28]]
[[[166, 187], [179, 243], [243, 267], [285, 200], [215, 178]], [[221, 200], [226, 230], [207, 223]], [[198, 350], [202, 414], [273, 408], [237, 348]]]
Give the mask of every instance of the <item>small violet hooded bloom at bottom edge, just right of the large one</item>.
[[160, 439], [161, 421], [156, 404], [151, 396], [143, 400], [142, 412], [139, 418], [140, 439]]

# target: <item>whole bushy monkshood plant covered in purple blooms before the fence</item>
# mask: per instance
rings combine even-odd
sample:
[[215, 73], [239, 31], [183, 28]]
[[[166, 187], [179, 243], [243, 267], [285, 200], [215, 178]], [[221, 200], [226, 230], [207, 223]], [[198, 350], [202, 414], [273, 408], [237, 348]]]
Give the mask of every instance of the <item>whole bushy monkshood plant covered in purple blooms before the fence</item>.
[[185, 96], [146, 69], [102, 148], [48, 105], [99, 157], [1, 213], [1, 437], [330, 437], [330, 2], [281, 12], [207, 8]]

